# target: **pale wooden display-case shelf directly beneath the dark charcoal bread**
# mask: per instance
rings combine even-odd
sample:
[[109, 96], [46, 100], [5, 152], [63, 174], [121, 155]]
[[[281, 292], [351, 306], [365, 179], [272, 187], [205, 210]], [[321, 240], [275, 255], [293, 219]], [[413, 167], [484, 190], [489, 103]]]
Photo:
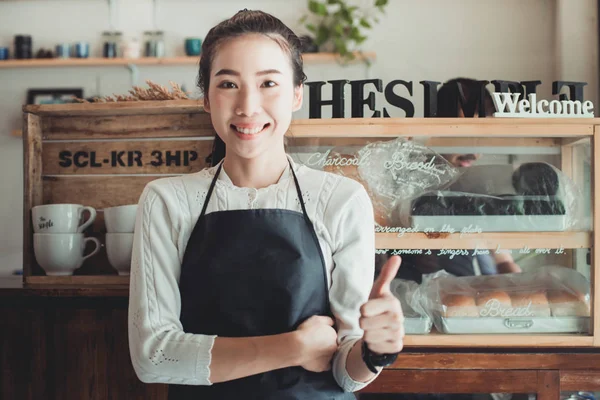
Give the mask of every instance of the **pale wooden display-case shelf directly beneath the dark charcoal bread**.
[[378, 249], [585, 249], [592, 247], [589, 232], [484, 232], [479, 234], [377, 233]]

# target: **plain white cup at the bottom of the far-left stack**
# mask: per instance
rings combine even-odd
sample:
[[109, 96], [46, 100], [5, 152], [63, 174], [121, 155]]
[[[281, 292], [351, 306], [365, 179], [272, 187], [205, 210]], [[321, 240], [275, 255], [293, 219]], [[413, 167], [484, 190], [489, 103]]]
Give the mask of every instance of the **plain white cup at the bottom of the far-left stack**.
[[[84, 256], [85, 246], [94, 242], [94, 250]], [[93, 237], [84, 237], [83, 233], [34, 233], [33, 250], [35, 259], [46, 275], [73, 275], [83, 262], [100, 251], [101, 243]]]

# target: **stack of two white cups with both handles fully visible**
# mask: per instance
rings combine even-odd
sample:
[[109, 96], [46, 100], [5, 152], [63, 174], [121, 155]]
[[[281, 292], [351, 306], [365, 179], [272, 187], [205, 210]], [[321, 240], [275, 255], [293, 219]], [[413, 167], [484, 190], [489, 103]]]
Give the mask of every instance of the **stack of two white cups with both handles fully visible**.
[[[84, 212], [89, 217], [84, 221]], [[33, 251], [35, 259], [46, 275], [73, 275], [83, 262], [98, 253], [100, 241], [85, 238], [83, 232], [96, 219], [93, 207], [81, 204], [47, 204], [31, 210], [33, 218]], [[84, 256], [88, 242], [95, 248]]]

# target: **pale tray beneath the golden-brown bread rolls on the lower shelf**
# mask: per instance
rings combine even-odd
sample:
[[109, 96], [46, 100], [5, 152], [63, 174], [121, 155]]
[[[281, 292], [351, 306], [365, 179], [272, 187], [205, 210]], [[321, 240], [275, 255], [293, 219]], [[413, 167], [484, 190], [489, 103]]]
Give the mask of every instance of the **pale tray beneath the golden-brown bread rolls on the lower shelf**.
[[589, 333], [590, 317], [445, 318], [442, 332], [479, 333]]

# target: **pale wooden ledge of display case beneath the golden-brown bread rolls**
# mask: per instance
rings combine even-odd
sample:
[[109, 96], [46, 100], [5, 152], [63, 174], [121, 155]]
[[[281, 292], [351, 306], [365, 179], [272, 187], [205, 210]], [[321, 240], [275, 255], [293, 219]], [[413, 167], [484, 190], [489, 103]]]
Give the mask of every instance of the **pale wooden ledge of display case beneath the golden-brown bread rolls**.
[[583, 335], [407, 335], [406, 347], [591, 347], [593, 336]]

